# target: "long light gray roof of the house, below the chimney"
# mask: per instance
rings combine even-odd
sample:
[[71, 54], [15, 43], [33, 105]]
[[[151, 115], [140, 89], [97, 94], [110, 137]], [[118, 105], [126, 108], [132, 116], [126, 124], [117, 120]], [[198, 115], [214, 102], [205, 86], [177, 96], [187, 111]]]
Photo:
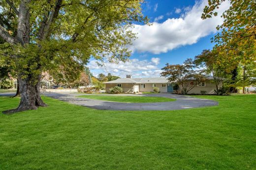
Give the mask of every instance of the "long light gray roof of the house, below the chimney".
[[113, 81], [104, 82], [109, 83], [168, 83], [164, 77], [147, 77], [147, 78], [118, 78]]

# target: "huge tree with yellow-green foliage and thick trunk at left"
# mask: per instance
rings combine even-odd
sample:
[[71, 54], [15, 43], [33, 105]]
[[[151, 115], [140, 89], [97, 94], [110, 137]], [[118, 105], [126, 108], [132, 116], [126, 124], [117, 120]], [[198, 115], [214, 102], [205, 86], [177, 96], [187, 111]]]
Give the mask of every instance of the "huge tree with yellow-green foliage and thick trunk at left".
[[[0, 56], [15, 63], [21, 101], [18, 111], [46, 106], [40, 97], [42, 72], [79, 74], [91, 56], [126, 61], [135, 38], [133, 22], [145, 22], [142, 0], [2, 0]], [[5, 15], [8, 11], [12, 14]], [[7, 21], [7, 22], [4, 22]], [[10, 29], [11, 27], [12, 29]], [[76, 75], [77, 76], [77, 75]]]

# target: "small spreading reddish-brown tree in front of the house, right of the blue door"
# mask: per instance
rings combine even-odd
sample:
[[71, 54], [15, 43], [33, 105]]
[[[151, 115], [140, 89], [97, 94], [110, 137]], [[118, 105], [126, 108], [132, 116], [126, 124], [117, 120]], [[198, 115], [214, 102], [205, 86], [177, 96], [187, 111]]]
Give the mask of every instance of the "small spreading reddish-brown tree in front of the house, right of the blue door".
[[195, 71], [196, 66], [191, 58], [187, 59], [182, 65], [169, 65], [162, 68], [161, 76], [167, 77], [171, 83], [177, 83], [181, 86], [182, 94], [188, 94], [197, 84], [193, 82], [204, 80], [199, 71]]

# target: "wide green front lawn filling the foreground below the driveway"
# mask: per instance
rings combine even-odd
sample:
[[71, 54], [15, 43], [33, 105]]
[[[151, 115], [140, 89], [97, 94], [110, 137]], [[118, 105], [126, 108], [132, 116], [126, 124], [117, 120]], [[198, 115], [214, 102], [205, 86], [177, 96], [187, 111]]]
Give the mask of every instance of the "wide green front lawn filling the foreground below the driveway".
[[[200, 96], [197, 96], [200, 97]], [[255, 170], [256, 95], [175, 111], [49, 105], [0, 115], [0, 170]], [[19, 98], [0, 97], [0, 112]]]

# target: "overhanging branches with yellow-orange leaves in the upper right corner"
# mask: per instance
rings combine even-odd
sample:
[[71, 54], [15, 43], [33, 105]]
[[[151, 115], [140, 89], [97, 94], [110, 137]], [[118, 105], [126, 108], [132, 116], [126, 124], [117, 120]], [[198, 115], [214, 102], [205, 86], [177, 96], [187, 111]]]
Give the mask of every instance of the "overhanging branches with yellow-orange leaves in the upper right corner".
[[[225, 0], [208, 0], [205, 6], [202, 19], [217, 16], [216, 9]], [[214, 41], [218, 45], [225, 45], [229, 48], [238, 46], [243, 50], [255, 49], [256, 40], [256, 1], [255, 0], [229, 0], [230, 7], [224, 11], [222, 17], [224, 23], [217, 26], [221, 29]]]

